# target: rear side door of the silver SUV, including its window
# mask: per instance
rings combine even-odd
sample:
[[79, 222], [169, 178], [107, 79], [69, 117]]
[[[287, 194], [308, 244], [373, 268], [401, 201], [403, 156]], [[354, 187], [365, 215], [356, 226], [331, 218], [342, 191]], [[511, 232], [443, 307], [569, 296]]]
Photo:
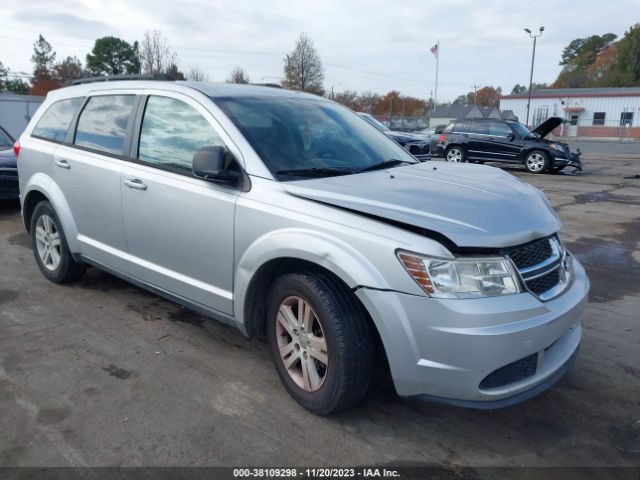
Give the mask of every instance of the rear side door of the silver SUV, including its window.
[[88, 97], [75, 130], [71, 129], [53, 159], [53, 178], [76, 222], [80, 253], [122, 272], [127, 271], [127, 247], [120, 170], [135, 104], [132, 94]]

